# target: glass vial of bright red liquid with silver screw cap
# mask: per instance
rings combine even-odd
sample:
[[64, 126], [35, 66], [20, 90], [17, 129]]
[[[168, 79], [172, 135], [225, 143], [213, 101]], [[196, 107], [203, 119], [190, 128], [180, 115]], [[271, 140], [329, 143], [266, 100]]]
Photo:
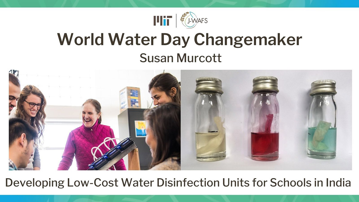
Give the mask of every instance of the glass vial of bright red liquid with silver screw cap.
[[251, 122], [251, 158], [273, 161], [279, 156], [278, 79], [271, 76], [253, 79], [254, 95]]

